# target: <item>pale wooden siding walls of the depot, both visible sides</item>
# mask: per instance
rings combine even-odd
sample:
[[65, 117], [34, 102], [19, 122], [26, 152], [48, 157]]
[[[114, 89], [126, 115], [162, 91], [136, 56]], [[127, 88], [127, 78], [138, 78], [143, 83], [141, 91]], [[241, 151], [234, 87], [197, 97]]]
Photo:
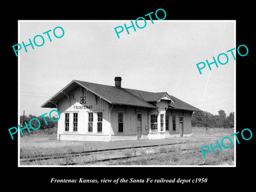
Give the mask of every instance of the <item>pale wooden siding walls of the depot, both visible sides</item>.
[[[74, 94], [74, 97], [73, 97]], [[86, 103], [80, 103], [80, 97], [86, 97]], [[70, 102], [67, 96], [59, 102], [60, 119], [58, 121], [58, 135], [60, 140], [86, 140], [86, 141], [115, 141], [115, 140], [135, 140], [137, 139], [137, 114], [141, 114], [142, 137], [141, 139], [164, 139], [168, 137], [179, 137], [179, 116], [183, 116], [183, 133], [191, 133], [191, 113], [183, 110], [171, 110], [168, 108], [168, 101], [161, 100], [155, 105], [157, 109], [114, 105], [109, 109], [108, 102], [99, 97], [95, 97], [90, 91], [82, 90], [78, 87], [70, 93]], [[91, 109], [76, 108], [79, 106], [92, 106]], [[167, 110], [166, 110], [167, 109]], [[102, 132], [97, 132], [97, 112], [103, 113]], [[93, 112], [93, 132], [88, 132], [89, 112]], [[123, 132], [118, 132], [118, 112], [123, 112]], [[65, 113], [69, 113], [69, 131], [65, 131]], [[73, 131], [73, 113], [78, 113], [77, 132]], [[158, 127], [156, 132], [150, 130], [150, 115], [158, 114]], [[161, 116], [164, 114], [164, 128], [161, 131]], [[165, 130], [165, 117], [169, 114], [169, 131]], [[175, 115], [176, 131], [172, 131], [172, 115]], [[59, 137], [60, 135], [60, 137]]]

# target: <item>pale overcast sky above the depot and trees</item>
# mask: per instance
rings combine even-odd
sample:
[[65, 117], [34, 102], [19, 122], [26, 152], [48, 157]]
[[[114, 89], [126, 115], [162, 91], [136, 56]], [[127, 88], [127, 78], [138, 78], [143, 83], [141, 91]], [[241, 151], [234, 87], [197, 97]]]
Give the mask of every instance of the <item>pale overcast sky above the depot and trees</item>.
[[[52, 109], [41, 108], [43, 103], [73, 79], [114, 86], [116, 76], [122, 77], [122, 87], [167, 92], [214, 115], [219, 109], [227, 115], [235, 110], [231, 55], [226, 65], [211, 65], [211, 71], [206, 66], [202, 75], [196, 67], [235, 47], [234, 21], [149, 20], [145, 28], [130, 28], [129, 35], [124, 30], [117, 38], [114, 28], [124, 23], [131, 25], [130, 20], [20, 21], [18, 43], [45, 37], [43, 46], [28, 46], [28, 52], [22, 47], [18, 53], [20, 114], [49, 114]], [[62, 38], [53, 35], [58, 26], [65, 30]], [[52, 42], [43, 35], [50, 29]]]

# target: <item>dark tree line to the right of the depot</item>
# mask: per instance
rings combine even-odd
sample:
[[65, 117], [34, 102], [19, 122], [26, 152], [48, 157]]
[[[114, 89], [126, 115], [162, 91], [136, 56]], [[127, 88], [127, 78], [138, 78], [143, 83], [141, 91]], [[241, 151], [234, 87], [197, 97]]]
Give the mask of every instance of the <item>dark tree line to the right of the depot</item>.
[[213, 115], [207, 111], [195, 111], [191, 119], [192, 126], [203, 127], [220, 127], [220, 128], [233, 128], [234, 127], [234, 112], [229, 116], [225, 111], [220, 109], [218, 115]]

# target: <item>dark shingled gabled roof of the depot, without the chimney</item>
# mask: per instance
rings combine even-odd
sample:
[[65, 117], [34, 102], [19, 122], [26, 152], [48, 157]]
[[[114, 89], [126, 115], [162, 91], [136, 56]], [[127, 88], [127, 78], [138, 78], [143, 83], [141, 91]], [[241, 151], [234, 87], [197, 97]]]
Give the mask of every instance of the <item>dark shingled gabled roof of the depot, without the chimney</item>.
[[[159, 102], [161, 99], [170, 100], [169, 107], [173, 109], [201, 111], [200, 109], [181, 101], [178, 98], [169, 95], [167, 92], [148, 92], [134, 89], [126, 89], [123, 87], [102, 85], [97, 83], [83, 82], [78, 80], [71, 81], [62, 90], [56, 93], [51, 99], [47, 100], [41, 107], [55, 108], [54, 103], [59, 102], [67, 97], [67, 93], [77, 89], [77, 87], [84, 87], [84, 89], [92, 92], [101, 99], [113, 105], [127, 105], [137, 107], [156, 108], [150, 103]], [[150, 102], [150, 103], [149, 103]]]

